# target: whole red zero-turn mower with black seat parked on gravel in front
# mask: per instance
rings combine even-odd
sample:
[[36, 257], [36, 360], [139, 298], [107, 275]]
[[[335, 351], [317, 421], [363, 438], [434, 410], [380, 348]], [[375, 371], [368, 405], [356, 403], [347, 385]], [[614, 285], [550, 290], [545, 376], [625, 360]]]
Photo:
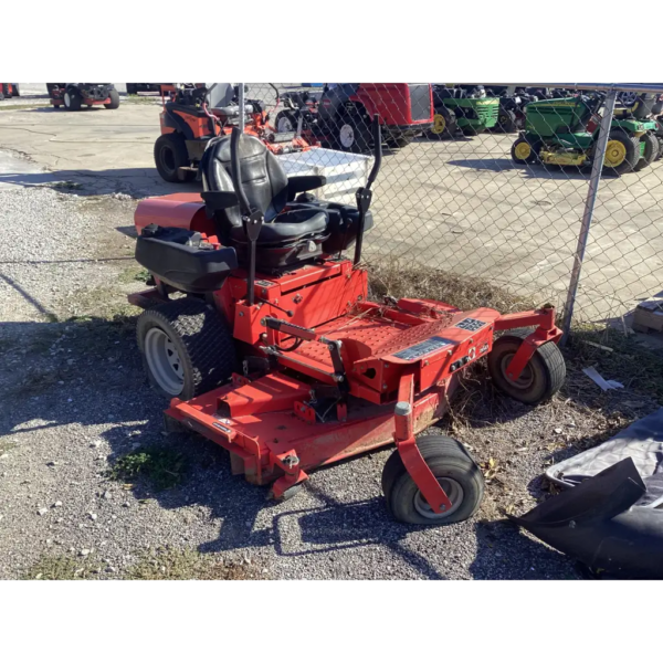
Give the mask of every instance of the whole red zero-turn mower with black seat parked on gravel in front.
[[[172, 398], [169, 430], [220, 444], [233, 472], [273, 484], [273, 497], [294, 496], [316, 467], [396, 442], [382, 478], [393, 516], [457, 523], [482, 503], [482, 472], [460, 442], [417, 435], [484, 357], [513, 398], [550, 398], [566, 376], [561, 333], [552, 308], [503, 316], [368, 301], [361, 249], [382, 159], [377, 118], [372, 141], [376, 166], [355, 209], [316, 200], [307, 192], [325, 178], [288, 179], [239, 128], [214, 138], [202, 194], [138, 206], [136, 257], [155, 285], [129, 298], [146, 309], [138, 343], [152, 386]], [[340, 257], [352, 244], [354, 261]]]

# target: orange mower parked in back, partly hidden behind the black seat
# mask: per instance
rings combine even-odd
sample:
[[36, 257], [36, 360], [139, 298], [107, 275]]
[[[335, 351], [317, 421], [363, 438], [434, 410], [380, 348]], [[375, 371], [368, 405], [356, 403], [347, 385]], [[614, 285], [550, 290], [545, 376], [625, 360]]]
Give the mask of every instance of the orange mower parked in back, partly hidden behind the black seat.
[[[280, 104], [278, 90], [270, 83]], [[229, 82], [185, 82], [162, 86], [161, 136], [155, 145], [155, 164], [167, 182], [192, 180], [212, 138], [230, 135], [244, 114], [244, 130], [275, 155], [304, 151], [311, 143], [295, 131], [278, 133], [270, 124], [263, 102], [239, 105], [239, 88]], [[168, 93], [168, 94], [166, 94]]]

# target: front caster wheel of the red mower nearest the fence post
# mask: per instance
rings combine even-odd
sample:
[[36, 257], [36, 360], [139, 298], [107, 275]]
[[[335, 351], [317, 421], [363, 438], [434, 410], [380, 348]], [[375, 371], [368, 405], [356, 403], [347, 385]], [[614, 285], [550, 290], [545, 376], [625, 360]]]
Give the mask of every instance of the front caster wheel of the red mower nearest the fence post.
[[566, 362], [560, 349], [547, 343], [537, 349], [520, 378], [511, 379], [507, 369], [530, 334], [528, 329], [515, 329], [496, 340], [488, 357], [488, 371], [499, 391], [527, 406], [536, 406], [562, 388]]

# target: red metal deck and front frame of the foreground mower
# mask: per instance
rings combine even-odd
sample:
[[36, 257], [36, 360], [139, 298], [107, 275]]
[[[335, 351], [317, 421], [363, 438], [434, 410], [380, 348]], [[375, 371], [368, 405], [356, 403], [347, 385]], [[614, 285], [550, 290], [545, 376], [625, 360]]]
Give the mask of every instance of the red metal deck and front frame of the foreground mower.
[[[315, 467], [398, 441], [393, 407], [402, 398], [403, 380], [415, 387], [412, 435], [407, 435], [413, 438], [444, 417], [459, 373], [491, 352], [495, 330], [540, 324], [540, 344], [559, 339], [551, 311], [502, 316], [488, 308], [464, 313], [432, 301], [368, 303], [358, 294], [365, 293], [366, 274], [344, 274], [347, 269], [347, 263], [328, 263], [273, 282], [259, 280], [264, 304], [254, 311], [238, 304], [234, 334], [262, 346], [262, 360], [271, 356], [273, 370], [254, 380], [235, 375], [230, 386], [188, 402], [175, 399], [166, 412], [230, 451], [234, 474], [255, 485], [276, 482], [276, 497], [306, 481], [306, 472]], [[230, 293], [245, 292], [244, 278], [230, 282]], [[290, 299], [293, 316], [271, 318], [280, 311], [270, 311], [270, 303], [286, 306], [288, 291], [295, 293]], [[155, 299], [158, 293], [149, 291], [133, 302], [148, 306]], [[327, 304], [319, 308], [314, 302]], [[351, 302], [357, 303], [348, 311]], [[316, 326], [329, 317], [334, 319]], [[315, 332], [301, 324], [315, 326]], [[538, 346], [523, 347], [514, 365], [519, 359], [525, 366]], [[337, 361], [333, 348], [339, 350]], [[344, 365], [352, 367], [349, 375], [343, 373]]]

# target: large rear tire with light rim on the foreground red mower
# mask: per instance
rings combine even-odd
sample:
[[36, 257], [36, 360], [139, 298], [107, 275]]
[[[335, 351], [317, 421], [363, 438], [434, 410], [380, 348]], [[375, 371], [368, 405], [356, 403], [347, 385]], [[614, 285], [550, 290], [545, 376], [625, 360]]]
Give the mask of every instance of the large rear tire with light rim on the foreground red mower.
[[194, 298], [146, 311], [138, 318], [138, 347], [150, 385], [168, 399], [188, 401], [212, 391], [238, 366], [228, 324]]

